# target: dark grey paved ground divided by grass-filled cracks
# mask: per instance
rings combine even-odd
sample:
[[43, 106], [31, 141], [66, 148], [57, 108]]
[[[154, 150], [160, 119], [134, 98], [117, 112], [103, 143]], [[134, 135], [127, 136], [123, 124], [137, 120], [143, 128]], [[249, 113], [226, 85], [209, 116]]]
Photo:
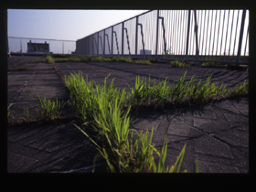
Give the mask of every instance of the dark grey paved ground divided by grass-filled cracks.
[[[16, 99], [10, 110], [20, 119], [24, 116], [23, 107], [34, 112], [40, 105], [37, 94], [41, 95], [43, 88], [47, 99], [58, 97], [63, 101], [69, 100], [69, 90], [57, 70], [47, 63], [33, 64], [28, 63], [28, 60], [16, 58], [13, 65], [26, 65], [35, 70], [8, 71], [8, 103]], [[137, 75], [142, 78], [152, 74], [152, 80], [168, 77], [173, 82], [186, 70], [186, 80], [190, 80], [193, 75], [199, 78], [212, 74], [212, 82], [223, 81], [223, 84], [233, 87], [248, 80], [248, 74], [242, 71], [198, 67], [178, 69], [164, 64], [145, 66], [131, 63], [68, 62], [56, 66], [62, 74], [69, 75], [73, 70], [77, 73], [82, 71], [89, 75], [90, 80], [101, 82], [112, 72], [107, 81], [115, 78], [114, 86], [119, 88], [127, 88], [125, 83], [133, 86]], [[176, 157], [187, 143], [182, 170], [187, 169], [193, 173], [197, 157], [200, 173], [249, 173], [248, 108], [247, 97], [189, 109], [144, 111], [133, 114], [131, 128], [139, 132], [149, 128], [150, 131], [154, 125], [153, 142], [156, 148], [161, 149], [164, 139], [168, 142], [166, 165], [176, 162]], [[71, 122], [9, 127], [7, 142], [9, 173], [91, 173], [93, 158], [98, 153], [95, 145]], [[101, 163], [104, 160], [97, 161], [99, 166], [96, 166], [96, 172], [108, 173], [107, 165]]]

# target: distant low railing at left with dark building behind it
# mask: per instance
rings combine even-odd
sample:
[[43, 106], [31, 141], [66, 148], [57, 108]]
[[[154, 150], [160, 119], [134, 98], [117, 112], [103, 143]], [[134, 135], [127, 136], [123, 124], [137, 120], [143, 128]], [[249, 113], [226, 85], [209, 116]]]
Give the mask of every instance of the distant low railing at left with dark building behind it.
[[8, 37], [9, 53], [72, 54], [76, 41], [46, 38]]

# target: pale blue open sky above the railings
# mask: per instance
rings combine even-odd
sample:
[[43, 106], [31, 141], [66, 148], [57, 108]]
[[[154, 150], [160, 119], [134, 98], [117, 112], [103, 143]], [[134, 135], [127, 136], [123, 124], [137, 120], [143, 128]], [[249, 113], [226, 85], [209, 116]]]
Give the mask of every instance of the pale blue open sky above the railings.
[[8, 37], [77, 40], [148, 10], [8, 9]]

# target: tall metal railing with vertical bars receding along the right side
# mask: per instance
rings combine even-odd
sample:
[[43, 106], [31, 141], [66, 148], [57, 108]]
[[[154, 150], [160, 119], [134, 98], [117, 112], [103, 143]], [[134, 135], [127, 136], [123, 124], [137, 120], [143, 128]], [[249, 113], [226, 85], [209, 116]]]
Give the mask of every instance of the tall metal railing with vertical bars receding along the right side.
[[76, 54], [249, 64], [248, 10], [151, 10], [76, 42]]

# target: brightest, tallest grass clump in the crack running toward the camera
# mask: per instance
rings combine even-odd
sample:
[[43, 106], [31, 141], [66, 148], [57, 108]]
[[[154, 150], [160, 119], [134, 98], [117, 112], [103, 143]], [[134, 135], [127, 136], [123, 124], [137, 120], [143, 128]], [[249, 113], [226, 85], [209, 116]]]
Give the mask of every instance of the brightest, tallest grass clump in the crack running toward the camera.
[[[186, 145], [176, 161], [176, 165], [179, 163], [178, 169], [175, 170], [176, 165], [165, 169], [167, 143], [164, 142], [162, 151], [158, 152], [152, 144], [154, 128], [150, 143], [147, 142], [148, 132], [139, 134], [135, 130], [129, 129], [131, 105], [125, 102], [127, 98], [134, 97], [129, 96], [124, 90], [121, 92], [119, 89], [114, 89], [112, 87], [113, 80], [107, 85], [107, 78], [103, 85], [97, 84], [93, 89], [93, 81], [89, 82], [88, 77], [84, 79], [81, 73], [71, 74], [68, 78], [65, 76], [66, 86], [69, 88], [74, 105], [80, 112], [80, 119], [85, 124], [91, 123], [94, 129], [100, 133], [101, 141], [103, 141], [102, 147], [100, 147], [77, 126], [91, 139], [91, 142], [98, 146], [100, 155], [95, 156], [93, 165], [99, 157], [103, 157], [112, 173], [179, 172]], [[123, 108], [125, 104], [128, 105], [127, 110]], [[133, 133], [130, 140], [128, 139], [128, 134], [131, 131], [138, 135], [134, 144], [132, 143]], [[154, 162], [155, 155], [160, 157], [158, 168]]]

